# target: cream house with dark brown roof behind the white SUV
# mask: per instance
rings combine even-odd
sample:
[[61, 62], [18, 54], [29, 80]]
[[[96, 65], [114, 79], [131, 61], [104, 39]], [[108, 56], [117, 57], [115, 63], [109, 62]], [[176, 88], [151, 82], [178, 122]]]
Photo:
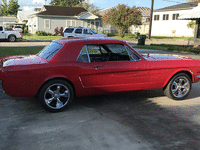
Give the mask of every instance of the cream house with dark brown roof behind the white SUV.
[[56, 27], [82, 26], [96, 32], [102, 30], [101, 18], [81, 7], [43, 5], [40, 12], [30, 15], [26, 24], [30, 33], [45, 31], [54, 33]]

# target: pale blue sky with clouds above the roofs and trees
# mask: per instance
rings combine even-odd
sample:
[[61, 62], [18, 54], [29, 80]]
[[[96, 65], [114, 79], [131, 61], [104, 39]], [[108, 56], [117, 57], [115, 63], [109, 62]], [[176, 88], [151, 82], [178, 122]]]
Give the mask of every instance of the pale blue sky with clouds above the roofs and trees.
[[[48, 5], [51, 0], [18, 0], [20, 9], [31, 10], [35, 7], [41, 7], [42, 5]], [[151, 0], [88, 0], [90, 3], [98, 6], [100, 9], [115, 7], [118, 4], [126, 4], [128, 6], [136, 7], [149, 7], [151, 8]], [[167, 6], [177, 5], [179, 3], [186, 3], [186, 0], [154, 0], [154, 10], [164, 8]]]

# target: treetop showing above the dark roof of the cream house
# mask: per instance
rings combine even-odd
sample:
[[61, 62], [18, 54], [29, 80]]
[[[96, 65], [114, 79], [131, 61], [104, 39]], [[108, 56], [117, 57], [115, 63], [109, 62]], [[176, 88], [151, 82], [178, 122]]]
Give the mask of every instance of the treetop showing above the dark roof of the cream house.
[[82, 3], [84, 0], [52, 0], [52, 6], [66, 6], [66, 7], [74, 7], [78, 4]]

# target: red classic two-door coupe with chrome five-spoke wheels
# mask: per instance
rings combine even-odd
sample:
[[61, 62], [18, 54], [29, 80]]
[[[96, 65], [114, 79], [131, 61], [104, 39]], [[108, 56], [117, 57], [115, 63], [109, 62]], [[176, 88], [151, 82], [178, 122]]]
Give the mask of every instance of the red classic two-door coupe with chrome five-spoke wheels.
[[184, 99], [200, 78], [200, 61], [168, 55], [141, 56], [116, 39], [60, 39], [36, 55], [2, 57], [3, 90], [14, 97], [37, 96], [52, 112], [75, 96], [160, 89]]

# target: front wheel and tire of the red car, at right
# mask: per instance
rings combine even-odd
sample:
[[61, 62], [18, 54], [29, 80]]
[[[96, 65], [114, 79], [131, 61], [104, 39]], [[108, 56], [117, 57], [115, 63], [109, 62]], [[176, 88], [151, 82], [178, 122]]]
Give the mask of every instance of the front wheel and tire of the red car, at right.
[[192, 81], [185, 73], [175, 75], [164, 89], [164, 94], [174, 100], [185, 99], [192, 88]]

